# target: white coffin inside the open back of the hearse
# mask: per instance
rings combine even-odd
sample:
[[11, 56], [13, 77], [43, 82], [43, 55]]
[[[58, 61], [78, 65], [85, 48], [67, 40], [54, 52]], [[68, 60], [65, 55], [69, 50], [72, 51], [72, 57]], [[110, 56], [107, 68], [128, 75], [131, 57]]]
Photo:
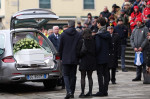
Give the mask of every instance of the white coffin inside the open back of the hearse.
[[44, 52], [42, 49], [22, 49], [15, 53], [14, 58], [18, 64], [43, 64]]

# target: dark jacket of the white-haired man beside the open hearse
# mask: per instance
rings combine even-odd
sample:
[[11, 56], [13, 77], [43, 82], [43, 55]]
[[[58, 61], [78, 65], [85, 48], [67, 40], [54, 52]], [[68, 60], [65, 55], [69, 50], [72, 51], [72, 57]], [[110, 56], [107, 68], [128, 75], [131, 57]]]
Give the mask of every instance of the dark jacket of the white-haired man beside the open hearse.
[[51, 34], [48, 38], [53, 43], [53, 45], [55, 46], [56, 50], [58, 51], [59, 43], [60, 43], [60, 34], [58, 34], [58, 39], [56, 38], [54, 33]]

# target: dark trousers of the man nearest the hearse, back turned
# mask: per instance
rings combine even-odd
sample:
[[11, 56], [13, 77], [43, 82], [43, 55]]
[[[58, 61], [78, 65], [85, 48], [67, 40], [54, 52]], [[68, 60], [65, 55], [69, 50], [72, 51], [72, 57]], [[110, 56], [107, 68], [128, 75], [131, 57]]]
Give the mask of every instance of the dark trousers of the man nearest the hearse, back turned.
[[63, 65], [63, 77], [67, 93], [74, 94], [76, 87], [77, 65]]

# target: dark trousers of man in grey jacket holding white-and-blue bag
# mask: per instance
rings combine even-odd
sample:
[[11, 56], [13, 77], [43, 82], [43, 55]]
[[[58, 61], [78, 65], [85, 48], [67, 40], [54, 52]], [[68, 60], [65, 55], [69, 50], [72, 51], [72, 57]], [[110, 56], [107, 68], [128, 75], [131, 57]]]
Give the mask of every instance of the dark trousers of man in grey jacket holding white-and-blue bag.
[[141, 66], [136, 67], [136, 78], [137, 79], [141, 79], [142, 72], [143, 73], [146, 72], [147, 50], [143, 51], [143, 58], [144, 58], [143, 64]]

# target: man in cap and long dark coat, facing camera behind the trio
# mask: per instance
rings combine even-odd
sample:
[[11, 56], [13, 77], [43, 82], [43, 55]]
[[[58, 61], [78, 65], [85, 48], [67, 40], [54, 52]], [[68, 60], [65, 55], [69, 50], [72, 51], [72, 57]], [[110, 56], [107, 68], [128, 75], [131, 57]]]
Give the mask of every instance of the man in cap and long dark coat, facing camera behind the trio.
[[112, 84], [116, 84], [116, 68], [118, 68], [118, 58], [120, 57], [120, 37], [118, 33], [114, 33], [114, 27], [113, 26], [108, 26], [107, 31], [110, 32], [111, 35], [111, 44], [112, 48], [109, 51], [109, 72], [111, 71], [110, 75], [110, 80]]

